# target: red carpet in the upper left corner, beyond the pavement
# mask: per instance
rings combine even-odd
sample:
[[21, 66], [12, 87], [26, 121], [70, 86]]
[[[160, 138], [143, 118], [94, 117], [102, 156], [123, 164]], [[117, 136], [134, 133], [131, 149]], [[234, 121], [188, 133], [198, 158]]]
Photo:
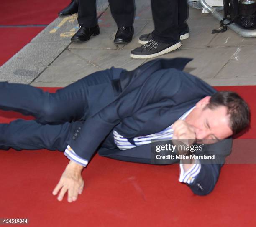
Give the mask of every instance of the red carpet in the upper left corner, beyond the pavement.
[[[0, 66], [57, 18], [57, 13], [69, 2], [69, 0], [1, 0]], [[18, 25], [26, 26], [17, 27]]]

